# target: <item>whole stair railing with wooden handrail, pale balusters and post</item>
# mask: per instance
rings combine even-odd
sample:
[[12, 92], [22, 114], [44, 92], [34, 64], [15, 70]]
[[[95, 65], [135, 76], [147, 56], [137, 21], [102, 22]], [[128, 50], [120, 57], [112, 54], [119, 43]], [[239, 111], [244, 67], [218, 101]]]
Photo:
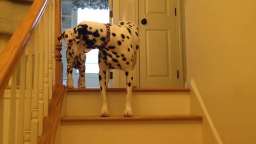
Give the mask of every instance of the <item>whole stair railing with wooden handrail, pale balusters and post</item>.
[[60, 14], [60, 0], [35, 0], [0, 53], [0, 143], [33, 144], [43, 134], [53, 87], [62, 84]]

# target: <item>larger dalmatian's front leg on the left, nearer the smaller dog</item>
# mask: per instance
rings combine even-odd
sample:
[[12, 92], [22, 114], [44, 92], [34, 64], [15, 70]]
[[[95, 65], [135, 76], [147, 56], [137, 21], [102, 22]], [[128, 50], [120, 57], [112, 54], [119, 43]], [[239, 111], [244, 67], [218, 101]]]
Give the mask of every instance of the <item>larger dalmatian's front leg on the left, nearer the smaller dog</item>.
[[99, 71], [99, 83], [100, 83], [100, 93], [102, 96], [102, 108], [100, 116], [108, 116], [108, 105], [107, 105], [107, 96], [106, 96], [106, 71]]

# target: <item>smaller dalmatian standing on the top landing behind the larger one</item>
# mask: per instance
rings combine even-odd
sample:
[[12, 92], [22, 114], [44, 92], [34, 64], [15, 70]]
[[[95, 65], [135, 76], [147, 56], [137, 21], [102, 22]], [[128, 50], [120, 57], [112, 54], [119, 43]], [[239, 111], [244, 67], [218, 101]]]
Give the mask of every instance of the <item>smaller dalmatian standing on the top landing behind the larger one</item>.
[[67, 51], [66, 51], [66, 58], [67, 58], [67, 87], [74, 88], [73, 83], [73, 68], [79, 70], [79, 78], [78, 78], [78, 88], [85, 88], [85, 61], [86, 61], [86, 54], [77, 49], [78, 47], [74, 47], [74, 30], [67, 29], [63, 31], [61, 35], [59, 35], [58, 40], [59, 42], [62, 39], [65, 39], [67, 43]]

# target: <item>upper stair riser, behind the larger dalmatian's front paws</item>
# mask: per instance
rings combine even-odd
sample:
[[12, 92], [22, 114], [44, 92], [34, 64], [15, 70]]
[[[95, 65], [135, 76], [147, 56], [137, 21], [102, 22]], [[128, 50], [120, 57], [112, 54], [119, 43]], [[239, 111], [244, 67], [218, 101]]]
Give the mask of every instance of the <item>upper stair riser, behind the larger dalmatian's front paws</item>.
[[[107, 92], [110, 115], [123, 115], [125, 92]], [[99, 115], [100, 92], [69, 92], [66, 115]], [[65, 107], [65, 105], [64, 105]], [[133, 115], [189, 114], [189, 92], [133, 92]]]

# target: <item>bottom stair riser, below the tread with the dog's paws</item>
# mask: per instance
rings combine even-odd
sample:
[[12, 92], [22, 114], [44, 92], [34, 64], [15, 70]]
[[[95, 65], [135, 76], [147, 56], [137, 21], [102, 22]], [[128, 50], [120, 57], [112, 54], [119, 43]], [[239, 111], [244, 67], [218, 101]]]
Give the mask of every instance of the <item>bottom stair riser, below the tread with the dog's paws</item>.
[[91, 122], [61, 125], [61, 144], [200, 144], [201, 138], [201, 123], [198, 122]]

